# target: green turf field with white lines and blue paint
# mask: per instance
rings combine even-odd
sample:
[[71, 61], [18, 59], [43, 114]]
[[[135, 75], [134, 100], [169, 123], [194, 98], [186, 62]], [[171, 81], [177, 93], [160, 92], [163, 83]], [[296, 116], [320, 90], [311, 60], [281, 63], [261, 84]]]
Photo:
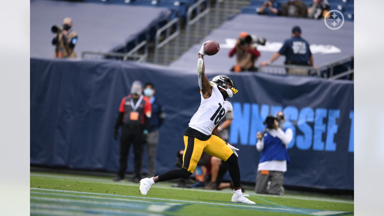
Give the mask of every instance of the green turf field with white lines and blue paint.
[[107, 177], [31, 172], [31, 215], [353, 215], [353, 201], [247, 191], [256, 205], [232, 203], [232, 191], [172, 188], [157, 183], [146, 196], [139, 184]]

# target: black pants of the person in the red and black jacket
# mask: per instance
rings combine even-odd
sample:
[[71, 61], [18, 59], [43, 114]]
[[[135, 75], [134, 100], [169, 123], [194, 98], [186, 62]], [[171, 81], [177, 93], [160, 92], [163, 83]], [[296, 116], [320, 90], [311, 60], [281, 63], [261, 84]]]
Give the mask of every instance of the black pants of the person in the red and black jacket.
[[120, 177], [124, 177], [124, 173], [127, 169], [127, 161], [129, 148], [133, 144], [134, 153], [134, 176], [141, 178], [141, 159], [142, 159], [142, 126], [128, 126], [124, 125], [121, 131], [120, 138], [120, 160], [119, 160], [119, 172]]

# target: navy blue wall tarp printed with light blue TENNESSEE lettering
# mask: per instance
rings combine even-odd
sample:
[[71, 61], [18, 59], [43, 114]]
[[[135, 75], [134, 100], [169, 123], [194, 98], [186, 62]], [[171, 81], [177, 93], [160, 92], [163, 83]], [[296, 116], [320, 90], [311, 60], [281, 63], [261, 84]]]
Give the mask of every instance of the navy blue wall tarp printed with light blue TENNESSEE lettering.
[[[212, 58], [205, 61], [208, 65]], [[141, 80], [154, 83], [167, 114], [160, 130], [157, 173], [175, 168], [176, 151], [184, 149], [182, 135], [200, 105], [197, 75], [182, 70], [134, 62], [31, 58], [30, 163], [117, 171], [114, 120], [132, 81]], [[207, 74], [209, 79], [215, 75]], [[231, 76], [239, 92], [230, 99], [235, 115], [230, 143], [240, 149], [242, 181], [255, 181], [260, 156], [256, 132], [264, 129], [263, 120], [284, 110], [285, 125], [294, 131], [285, 184], [354, 189], [353, 82], [263, 73]], [[128, 171], [132, 158], [131, 151]]]

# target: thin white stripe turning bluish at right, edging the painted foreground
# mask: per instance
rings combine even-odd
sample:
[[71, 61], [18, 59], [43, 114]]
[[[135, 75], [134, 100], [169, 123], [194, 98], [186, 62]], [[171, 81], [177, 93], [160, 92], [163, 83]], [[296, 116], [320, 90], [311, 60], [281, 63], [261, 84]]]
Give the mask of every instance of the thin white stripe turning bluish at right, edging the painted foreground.
[[[45, 191], [43, 193], [41, 192], [37, 192], [37, 191]], [[53, 192], [53, 193], [50, 193], [50, 192]], [[112, 198], [114, 200], [116, 199], [121, 199], [121, 198], [125, 198], [127, 200], [127, 198], [130, 198], [128, 199], [129, 201], [133, 201], [133, 199], [149, 199], [149, 200], [156, 200], [156, 201], [172, 201], [172, 202], [178, 202], [178, 203], [197, 203], [197, 204], [207, 204], [207, 205], [219, 205], [219, 206], [225, 206], [225, 208], [238, 208], [238, 209], [244, 209], [244, 208], [248, 208], [248, 209], [254, 209], [254, 210], [259, 210], [259, 211], [274, 211], [274, 212], [280, 212], [280, 213], [296, 213], [296, 214], [316, 214], [316, 213], [320, 213], [320, 212], [325, 212], [325, 214], [322, 214], [322, 215], [331, 215], [331, 214], [326, 214], [326, 211], [322, 211], [322, 210], [318, 210], [318, 209], [301, 209], [301, 208], [289, 208], [289, 207], [286, 207], [286, 206], [266, 206], [266, 205], [258, 205], [258, 206], [254, 206], [254, 205], [251, 205], [251, 204], [226, 204], [226, 203], [206, 203], [206, 202], [199, 202], [199, 201], [184, 201], [184, 200], [175, 200], [175, 199], [161, 199], [161, 198], [149, 198], [149, 197], [139, 197], [139, 196], [124, 196], [124, 195], [114, 195], [114, 194], [101, 194], [101, 193], [89, 193], [89, 192], [79, 192], [79, 191], [63, 191], [63, 190], [54, 190], [54, 189], [43, 189], [43, 188], [31, 188], [31, 194], [36, 194], [36, 193], [39, 193], [39, 194], [46, 194], [46, 195], [53, 195], [53, 196], [78, 196], [80, 197], [79, 195], [75, 195], [75, 194], [88, 194], [87, 196], [81, 196], [83, 198], [87, 198], [89, 195], [98, 195], [98, 196], [104, 196], [104, 198], [108, 197], [108, 198]], [[89, 198], [93, 198], [91, 196], [89, 196]], [[143, 200], [144, 201], [144, 200]], [[270, 201], [269, 201], [270, 202]], [[273, 202], [270, 202], [271, 204]], [[273, 203], [273, 204], [277, 204], [277, 203]], [[346, 214], [346, 212], [342, 212], [342, 211], [337, 211], [337, 212], [333, 212], [333, 215], [338, 215], [338, 214]]]

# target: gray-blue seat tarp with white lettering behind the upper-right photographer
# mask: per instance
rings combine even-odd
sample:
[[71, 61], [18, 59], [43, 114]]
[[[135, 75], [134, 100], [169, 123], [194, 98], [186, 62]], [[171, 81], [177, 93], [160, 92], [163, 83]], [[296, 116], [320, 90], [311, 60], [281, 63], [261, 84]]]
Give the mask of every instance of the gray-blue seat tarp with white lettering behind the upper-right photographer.
[[[324, 24], [324, 20], [311, 20], [303, 18], [272, 17], [258, 15], [237, 15], [233, 20], [223, 23], [218, 29], [213, 30], [202, 42], [215, 40], [220, 44], [220, 51], [209, 56], [210, 61], [207, 70], [227, 72], [235, 65], [235, 56], [229, 58], [230, 49], [235, 46], [236, 38], [240, 32], [248, 32], [258, 37], [266, 38], [266, 46], [258, 46], [261, 53], [256, 64], [261, 61], [270, 60], [274, 52], [278, 51], [284, 40], [291, 37], [292, 27], [301, 27], [302, 37], [311, 45], [315, 65], [322, 65], [345, 56], [353, 55], [353, 22], [344, 22], [343, 27], [338, 30], [330, 30]], [[195, 68], [194, 61], [201, 43], [192, 46], [171, 66], [182, 68]], [[285, 60], [281, 56], [273, 64], [282, 65]]]

